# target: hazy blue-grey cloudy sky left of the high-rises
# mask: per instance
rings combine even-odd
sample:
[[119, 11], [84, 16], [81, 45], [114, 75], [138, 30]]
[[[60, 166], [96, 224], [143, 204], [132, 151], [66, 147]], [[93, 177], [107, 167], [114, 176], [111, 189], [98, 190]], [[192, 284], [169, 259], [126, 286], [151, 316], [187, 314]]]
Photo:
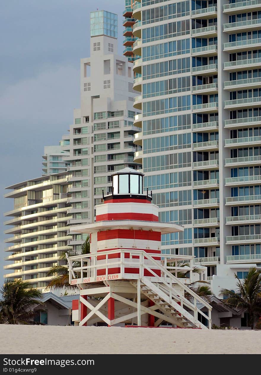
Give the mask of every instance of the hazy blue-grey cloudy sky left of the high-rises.
[[[95, 5], [94, 5], [95, 4]], [[44, 146], [57, 145], [80, 107], [80, 59], [90, 54], [90, 12], [118, 14], [122, 54], [125, 0], [8, 0], [0, 14], [0, 285], [6, 186], [42, 175]]]

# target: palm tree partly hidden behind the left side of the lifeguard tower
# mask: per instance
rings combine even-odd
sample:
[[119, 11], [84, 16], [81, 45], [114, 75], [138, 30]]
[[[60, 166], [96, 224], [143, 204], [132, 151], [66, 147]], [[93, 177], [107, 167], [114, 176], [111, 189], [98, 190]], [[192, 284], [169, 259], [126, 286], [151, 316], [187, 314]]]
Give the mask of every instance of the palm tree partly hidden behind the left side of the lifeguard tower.
[[[66, 260], [66, 254], [69, 257], [74, 257], [76, 255], [79, 255], [77, 252], [73, 250], [67, 250], [63, 252], [60, 256], [61, 260]], [[81, 254], [90, 254], [90, 236], [87, 236], [85, 242], [82, 244], [82, 251]], [[80, 262], [74, 261], [73, 262], [74, 267], [80, 267]], [[52, 279], [46, 288], [58, 288], [58, 289], [77, 289], [77, 285], [70, 285], [69, 284], [69, 272], [68, 272], [68, 266], [61, 266], [56, 265], [53, 266], [50, 271], [48, 272], [48, 275], [55, 276], [54, 279]]]

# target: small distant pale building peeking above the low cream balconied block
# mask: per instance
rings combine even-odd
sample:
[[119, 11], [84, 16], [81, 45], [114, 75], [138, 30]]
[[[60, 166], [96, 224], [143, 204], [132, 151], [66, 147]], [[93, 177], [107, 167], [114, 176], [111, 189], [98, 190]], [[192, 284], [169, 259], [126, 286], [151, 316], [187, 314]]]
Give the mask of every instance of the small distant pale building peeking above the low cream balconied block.
[[67, 151], [62, 150], [64, 144], [66, 144], [66, 141], [61, 141], [59, 146], [44, 147], [44, 155], [42, 156], [43, 176], [68, 170], [70, 163], [63, 159], [68, 154]]

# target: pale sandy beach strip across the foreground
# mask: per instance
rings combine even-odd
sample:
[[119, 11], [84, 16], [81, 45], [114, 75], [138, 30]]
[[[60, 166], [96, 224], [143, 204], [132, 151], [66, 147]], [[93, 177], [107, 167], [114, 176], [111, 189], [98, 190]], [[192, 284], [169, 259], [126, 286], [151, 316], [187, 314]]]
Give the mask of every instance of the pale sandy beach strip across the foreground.
[[0, 337], [0, 354], [261, 353], [250, 330], [0, 325]]

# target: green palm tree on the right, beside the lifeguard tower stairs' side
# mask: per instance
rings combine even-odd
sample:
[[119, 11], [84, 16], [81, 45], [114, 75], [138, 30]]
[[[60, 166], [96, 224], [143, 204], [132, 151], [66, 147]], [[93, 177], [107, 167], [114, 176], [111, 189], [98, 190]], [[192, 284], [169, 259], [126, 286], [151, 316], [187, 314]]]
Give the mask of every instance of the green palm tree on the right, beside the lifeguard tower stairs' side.
[[252, 267], [243, 283], [235, 274], [238, 290], [236, 292], [221, 289], [220, 293], [227, 298], [222, 301], [225, 306], [247, 312], [250, 317], [251, 329], [254, 329], [255, 321], [261, 316], [261, 272]]

